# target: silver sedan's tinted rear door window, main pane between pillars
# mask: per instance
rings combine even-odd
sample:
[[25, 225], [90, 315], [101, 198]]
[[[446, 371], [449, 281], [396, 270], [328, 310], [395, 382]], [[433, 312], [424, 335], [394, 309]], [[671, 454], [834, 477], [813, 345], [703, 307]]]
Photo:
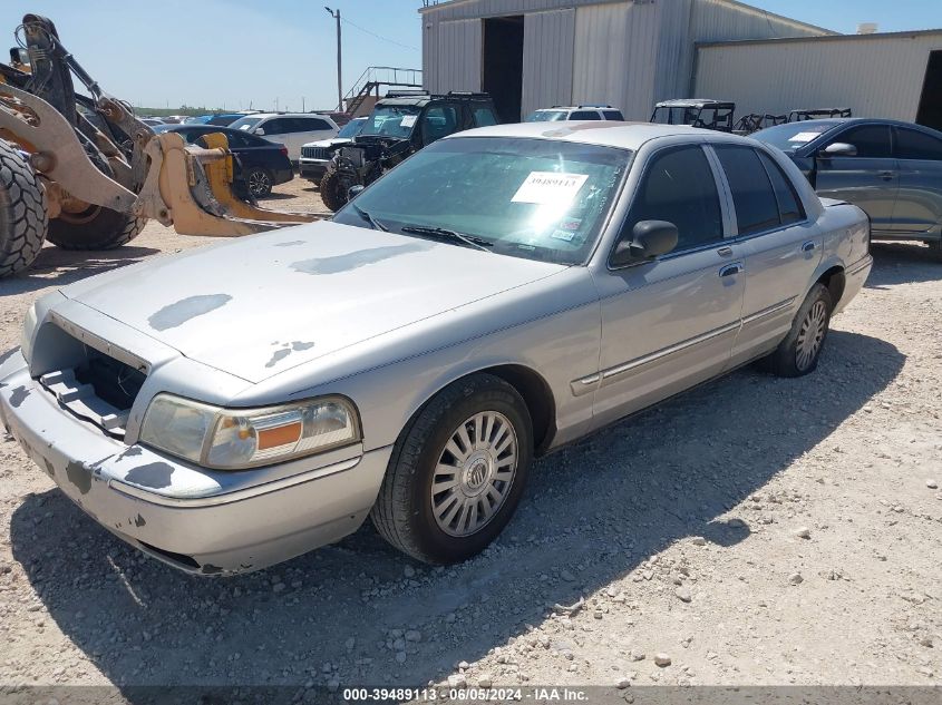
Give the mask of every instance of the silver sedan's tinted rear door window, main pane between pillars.
[[751, 147], [713, 145], [736, 207], [740, 235], [779, 225], [778, 202], [759, 155]]

